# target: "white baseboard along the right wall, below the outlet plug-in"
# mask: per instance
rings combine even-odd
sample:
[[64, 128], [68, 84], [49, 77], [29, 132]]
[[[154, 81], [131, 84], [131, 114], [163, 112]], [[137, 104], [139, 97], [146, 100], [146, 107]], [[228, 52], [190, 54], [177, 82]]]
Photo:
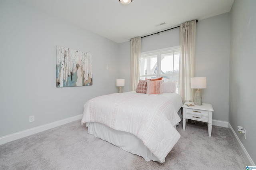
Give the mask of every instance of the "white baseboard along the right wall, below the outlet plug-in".
[[236, 132], [234, 131], [234, 129], [232, 128], [232, 126], [230, 125], [230, 123], [228, 123], [228, 127], [231, 129], [231, 131], [233, 132], [233, 137], [236, 139], [236, 143], [238, 144], [238, 148], [240, 149], [242, 155], [244, 156], [244, 159], [246, 161], [246, 163], [248, 164], [248, 166], [255, 166], [252, 158], [250, 157], [250, 155], [248, 154], [247, 150], [244, 148], [244, 145], [242, 144], [241, 140], [238, 138]]

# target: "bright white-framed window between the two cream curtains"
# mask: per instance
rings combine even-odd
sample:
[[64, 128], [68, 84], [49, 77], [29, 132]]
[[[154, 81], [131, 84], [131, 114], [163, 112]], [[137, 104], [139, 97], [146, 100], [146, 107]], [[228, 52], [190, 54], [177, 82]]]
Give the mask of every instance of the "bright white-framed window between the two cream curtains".
[[179, 61], [179, 46], [141, 53], [140, 79], [163, 77], [164, 82], [178, 82]]

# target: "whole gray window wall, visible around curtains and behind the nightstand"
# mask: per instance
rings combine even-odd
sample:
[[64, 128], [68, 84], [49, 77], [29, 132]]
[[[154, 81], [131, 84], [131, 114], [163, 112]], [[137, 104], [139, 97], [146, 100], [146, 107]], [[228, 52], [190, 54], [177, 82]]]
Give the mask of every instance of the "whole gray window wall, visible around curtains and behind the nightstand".
[[[200, 20], [196, 26], [196, 76], [207, 78], [201, 89], [204, 103], [211, 103], [213, 119], [228, 122], [230, 13]], [[142, 38], [141, 51], [179, 45], [179, 28]], [[119, 77], [130, 79], [130, 42], [119, 44], [120, 68], [127, 68]], [[124, 51], [124, 52], [123, 52]], [[126, 81], [127, 82], [127, 81]], [[129, 86], [129, 83], [127, 84]], [[126, 88], [126, 87], [125, 87]], [[126, 88], [129, 91], [129, 88]]]

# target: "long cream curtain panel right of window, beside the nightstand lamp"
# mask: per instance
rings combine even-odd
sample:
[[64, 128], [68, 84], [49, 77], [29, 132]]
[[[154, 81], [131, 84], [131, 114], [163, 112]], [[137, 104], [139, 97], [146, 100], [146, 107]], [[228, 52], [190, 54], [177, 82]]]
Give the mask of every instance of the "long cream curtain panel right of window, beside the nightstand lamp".
[[178, 93], [183, 103], [194, 101], [190, 78], [195, 76], [196, 20], [180, 25], [180, 65]]

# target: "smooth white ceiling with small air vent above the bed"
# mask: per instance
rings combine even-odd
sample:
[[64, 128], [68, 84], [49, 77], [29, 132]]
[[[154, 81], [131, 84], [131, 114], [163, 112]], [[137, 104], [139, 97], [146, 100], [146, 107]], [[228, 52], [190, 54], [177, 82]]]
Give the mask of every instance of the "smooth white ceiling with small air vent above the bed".
[[[230, 12], [234, 0], [22, 0], [116, 43]], [[161, 23], [166, 22], [164, 25]], [[157, 26], [160, 25], [160, 26]]]

